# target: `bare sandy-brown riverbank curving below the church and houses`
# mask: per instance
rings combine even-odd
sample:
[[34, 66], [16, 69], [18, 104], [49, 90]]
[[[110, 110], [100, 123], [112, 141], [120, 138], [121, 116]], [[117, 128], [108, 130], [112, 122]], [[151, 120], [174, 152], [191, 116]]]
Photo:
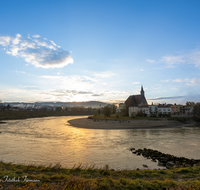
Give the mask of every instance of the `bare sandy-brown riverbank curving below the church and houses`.
[[194, 122], [182, 123], [175, 120], [119, 120], [119, 119], [73, 119], [68, 123], [73, 127], [86, 129], [166, 129], [193, 126]]

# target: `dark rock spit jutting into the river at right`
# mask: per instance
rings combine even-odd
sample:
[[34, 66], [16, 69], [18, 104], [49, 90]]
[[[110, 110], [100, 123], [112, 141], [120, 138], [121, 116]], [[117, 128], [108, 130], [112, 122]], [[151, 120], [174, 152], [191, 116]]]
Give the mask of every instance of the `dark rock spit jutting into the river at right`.
[[[135, 148], [130, 148], [129, 150], [137, 156], [142, 155], [144, 158], [151, 159], [152, 162], [158, 162], [158, 166], [164, 166], [167, 169], [200, 166], [200, 159], [177, 157], [147, 148], [137, 150], [135, 150]], [[143, 166], [148, 167], [146, 165]]]

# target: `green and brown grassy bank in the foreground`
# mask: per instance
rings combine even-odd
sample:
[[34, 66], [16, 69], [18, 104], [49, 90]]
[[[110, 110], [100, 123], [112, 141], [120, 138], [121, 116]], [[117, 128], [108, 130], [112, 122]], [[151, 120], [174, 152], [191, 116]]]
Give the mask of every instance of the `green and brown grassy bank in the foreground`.
[[[5, 177], [20, 182], [5, 182]], [[37, 182], [23, 182], [24, 177]], [[4, 189], [200, 189], [200, 167], [169, 170], [121, 170], [108, 166], [71, 169], [0, 162], [0, 187]]]

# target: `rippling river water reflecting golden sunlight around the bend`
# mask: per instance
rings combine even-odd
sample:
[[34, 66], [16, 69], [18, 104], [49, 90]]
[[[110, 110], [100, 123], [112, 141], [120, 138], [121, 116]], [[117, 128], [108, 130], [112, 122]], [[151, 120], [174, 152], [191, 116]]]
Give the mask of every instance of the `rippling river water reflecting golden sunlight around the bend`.
[[[81, 116], [83, 117], [83, 116]], [[9, 120], [0, 124], [0, 159], [4, 162], [48, 165], [60, 163], [116, 170], [159, 168], [157, 163], [132, 154], [134, 147], [200, 159], [200, 127], [174, 129], [97, 130], [68, 125], [77, 116]]]

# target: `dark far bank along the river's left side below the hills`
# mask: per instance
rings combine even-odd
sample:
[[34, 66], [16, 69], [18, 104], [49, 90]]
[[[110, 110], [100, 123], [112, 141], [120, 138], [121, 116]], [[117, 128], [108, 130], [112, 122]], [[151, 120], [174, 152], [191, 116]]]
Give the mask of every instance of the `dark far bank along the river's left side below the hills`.
[[78, 116], [93, 115], [92, 111], [0, 111], [0, 120], [27, 119], [48, 116]]

